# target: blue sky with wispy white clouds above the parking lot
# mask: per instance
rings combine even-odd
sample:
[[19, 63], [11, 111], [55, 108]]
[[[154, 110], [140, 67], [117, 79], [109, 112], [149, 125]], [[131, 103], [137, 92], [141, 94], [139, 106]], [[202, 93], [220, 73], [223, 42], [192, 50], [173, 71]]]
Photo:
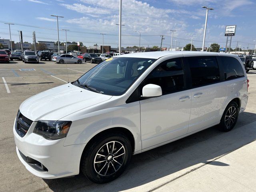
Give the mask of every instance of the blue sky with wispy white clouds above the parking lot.
[[[170, 47], [171, 32], [174, 32], [176, 45], [180, 47], [190, 43], [202, 46], [206, 10], [201, 6], [214, 8], [209, 11], [206, 32], [206, 44], [216, 42], [225, 46], [226, 25], [237, 25], [236, 36], [232, 39], [232, 48], [237, 41], [241, 48], [254, 48], [256, 39], [255, 0], [123, 0], [122, 1], [122, 47], [138, 46], [141, 33], [141, 46], [160, 46], [160, 35], [165, 35], [163, 47]], [[8, 25], [12, 22], [12, 40], [18, 42], [17, 30], [22, 30], [24, 41], [32, 42], [32, 32], [36, 40], [56, 41], [56, 18], [50, 15], [64, 16], [59, 19], [59, 29], [68, 29], [68, 41], [82, 41], [84, 45], [102, 44], [117, 47], [119, 0], [7, 0], [1, 10], [0, 37], [9, 39]], [[39, 26], [49, 29], [21, 26]], [[54, 30], [51, 30], [54, 29]], [[65, 32], [60, 31], [60, 42], [64, 42]], [[174, 44], [174, 43], [173, 43]]]

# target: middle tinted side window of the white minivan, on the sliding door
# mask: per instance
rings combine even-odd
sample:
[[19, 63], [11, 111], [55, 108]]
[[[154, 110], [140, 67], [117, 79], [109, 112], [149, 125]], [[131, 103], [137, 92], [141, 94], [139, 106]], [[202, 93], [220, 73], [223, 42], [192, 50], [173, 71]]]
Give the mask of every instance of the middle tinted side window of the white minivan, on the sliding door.
[[220, 72], [215, 57], [188, 57], [192, 87], [203, 86], [220, 81]]

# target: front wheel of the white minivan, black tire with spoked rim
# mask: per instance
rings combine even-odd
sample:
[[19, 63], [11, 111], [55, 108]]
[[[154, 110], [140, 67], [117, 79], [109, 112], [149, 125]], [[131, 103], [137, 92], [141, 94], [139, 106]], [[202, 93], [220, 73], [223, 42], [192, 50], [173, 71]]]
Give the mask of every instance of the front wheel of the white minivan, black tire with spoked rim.
[[[112, 146], [114, 146], [113, 152]], [[118, 178], [124, 172], [131, 156], [132, 147], [128, 138], [121, 132], [108, 133], [98, 137], [90, 148], [84, 151], [80, 168], [92, 182], [106, 183]], [[95, 161], [102, 162], [95, 163]]]

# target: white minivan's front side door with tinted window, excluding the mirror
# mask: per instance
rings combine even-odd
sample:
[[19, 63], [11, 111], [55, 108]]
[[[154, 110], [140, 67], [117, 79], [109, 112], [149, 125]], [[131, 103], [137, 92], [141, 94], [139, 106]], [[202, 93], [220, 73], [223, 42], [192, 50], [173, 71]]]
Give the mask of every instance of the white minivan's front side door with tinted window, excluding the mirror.
[[140, 100], [142, 149], [186, 134], [191, 110], [181, 58], [159, 64], [145, 78], [140, 92], [146, 84], [159, 85], [162, 96]]

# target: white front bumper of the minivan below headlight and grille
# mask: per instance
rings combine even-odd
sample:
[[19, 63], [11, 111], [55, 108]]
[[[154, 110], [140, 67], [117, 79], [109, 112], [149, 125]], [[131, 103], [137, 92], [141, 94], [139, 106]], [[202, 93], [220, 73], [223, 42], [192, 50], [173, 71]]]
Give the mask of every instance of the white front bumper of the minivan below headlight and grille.
[[[16, 122], [16, 119], [15, 119]], [[33, 122], [24, 137], [20, 137], [13, 126], [14, 141], [18, 158], [32, 174], [46, 179], [79, 174], [80, 159], [86, 144], [63, 146], [66, 138], [46, 140], [34, 134]], [[44, 170], [29, 164], [26, 158], [39, 162]], [[40, 167], [40, 166], [39, 166]]]

